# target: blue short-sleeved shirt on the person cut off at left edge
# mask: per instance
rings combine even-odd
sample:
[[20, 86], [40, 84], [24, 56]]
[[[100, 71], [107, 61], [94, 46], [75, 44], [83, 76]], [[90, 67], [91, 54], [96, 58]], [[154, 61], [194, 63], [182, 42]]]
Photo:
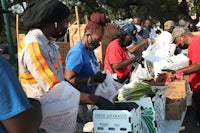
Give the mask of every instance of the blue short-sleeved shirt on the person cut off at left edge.
[[1, 121], [31, 108], [14, 70], [0, 55], [0, 133], [7, 133]]

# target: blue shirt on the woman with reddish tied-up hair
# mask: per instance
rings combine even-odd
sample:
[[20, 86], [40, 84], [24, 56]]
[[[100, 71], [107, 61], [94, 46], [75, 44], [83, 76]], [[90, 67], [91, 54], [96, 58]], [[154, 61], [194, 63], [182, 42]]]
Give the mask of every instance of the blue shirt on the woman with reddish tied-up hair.
[[[94, 52], [88, 51], [80, 41], [69, 50], [65, 63], [65, 68], [78, 73], [79, 78], [94, 76], [95, 73], [100, 70], [100, 65]], [[81, 85], [79, 89], [82, 92], [93, 93], [94, 87], [95, 84], [93, 83], [88, 86]]]

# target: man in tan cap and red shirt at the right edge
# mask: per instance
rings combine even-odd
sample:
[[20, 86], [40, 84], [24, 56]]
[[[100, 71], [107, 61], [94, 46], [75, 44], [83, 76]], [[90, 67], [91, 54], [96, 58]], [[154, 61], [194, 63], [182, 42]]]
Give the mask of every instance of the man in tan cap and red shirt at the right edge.
[[172, 42], [177, 47], [188, 47], [189, 66], [179, 69], [176, 75], [189, 75], [188, 81], [193, 91], [193, 101], [196, 106], [196, 120], [200, 124], [200, 37], [192, 35], [188, 29], [184, 27], [176, 27], [172, 31]]

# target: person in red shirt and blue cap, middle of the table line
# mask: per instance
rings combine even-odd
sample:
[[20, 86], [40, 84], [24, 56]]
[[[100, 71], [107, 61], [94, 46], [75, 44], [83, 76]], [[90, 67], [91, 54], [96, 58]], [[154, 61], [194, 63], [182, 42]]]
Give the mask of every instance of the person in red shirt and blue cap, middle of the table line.
[[136, 27], [133, 24], [124, 25], [106, 48], [104, 70], [108, 70], [110, 74], [116, 73], [116, 80], [120, 83], [130, 78], [132, 63], [141, 61], [141, 57], [129, 57], [126, 49], [133, 42], [135, 33]]

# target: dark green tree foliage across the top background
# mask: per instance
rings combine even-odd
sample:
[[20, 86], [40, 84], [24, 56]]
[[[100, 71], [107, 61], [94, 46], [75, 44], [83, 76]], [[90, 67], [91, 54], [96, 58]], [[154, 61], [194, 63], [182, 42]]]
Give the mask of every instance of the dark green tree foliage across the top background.
[[[21, 6], [23, 2], [29, 0], [6, 0], [8, 8]], [[186, 0], [178, 3], [178, 0], [62, 0], [71, 10], [71, 21], [76, 19], [75, 6], [78, 6], [80, 23], [85, 23], [85, 15], [88, 17], [93, 12], [104, 13], [109, 20], [132, 18], [140, 15], [143, 18], [150, 18], [152, 21], [164, 23], [168, 19], [178, 21], [180, 18], [189, 18], [191, 14], [200, 13], [200, 0], [190, 0], [194, 2], [193, 8], [189, 10]], [[187, 0], [188, 1], [188, 0]], [[17, 5], [17, 6], [16, 6]], [[15, 9], [15, 8], [13, 8]], [[20, 13], [20, 17], [21, 17]], [[15, 16], [10, 15], [14, 20]], [[3, 25], [2, 17], [0, 25]], [[11, 21], [15, 25], [15, 21]], [[20, 25], [22, 25], [20, 23]], [[22, 27], [22, 26], [20, 26]]]

